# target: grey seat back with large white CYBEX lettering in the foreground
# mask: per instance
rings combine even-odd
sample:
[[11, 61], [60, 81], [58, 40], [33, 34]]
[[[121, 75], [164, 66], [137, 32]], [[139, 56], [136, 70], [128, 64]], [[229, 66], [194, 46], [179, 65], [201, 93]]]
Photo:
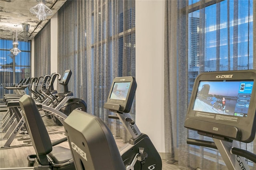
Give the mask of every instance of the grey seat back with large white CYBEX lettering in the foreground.
[[77, 170], [125, 170], [116, 141], [99, 117], [75, 109], [63, 125]]

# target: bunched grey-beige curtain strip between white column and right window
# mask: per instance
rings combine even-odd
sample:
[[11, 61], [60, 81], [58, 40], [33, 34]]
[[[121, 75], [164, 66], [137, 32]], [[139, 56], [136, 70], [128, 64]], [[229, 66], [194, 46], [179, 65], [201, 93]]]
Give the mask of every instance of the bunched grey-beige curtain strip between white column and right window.
[[[167, 162], [177, 160], [181, 165], [189, 164], [187, 130], [184, 118], [188, 106], [188, 63], [186, 27], [186, 1], [166, 1], [164, 39], [164, 117]], [[179, 19], [179, 20], [178, 20]], [[186, 42], [186, 41], [185, 41]], [[179, 57], [178, 57], [179, 56]], [[172, 88], [173, 82], [179, 88]]]

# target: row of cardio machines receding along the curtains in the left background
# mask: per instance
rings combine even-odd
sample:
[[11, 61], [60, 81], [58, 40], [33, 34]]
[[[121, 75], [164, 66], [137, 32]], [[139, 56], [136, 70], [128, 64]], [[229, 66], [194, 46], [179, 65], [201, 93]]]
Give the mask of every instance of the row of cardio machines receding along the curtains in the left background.
[[[60, 74], [53, 73], [38, 78], [22, 80], [16, 87], [5, 87], [7, 90], [15, 90], [16, 94], [6, 94], [4, 102], [8, 110], [1, 120], [1, 133], [4, 136], [0, 140], [6, 140], [2, 147], [10, 147], [10, 144], [18, 133], [27, 134], [27, 126], [24, 115], [20, 109], [18, 100], [26, 94], [28, 88], [33, 94], [33, 100], [43, 108], [44, 115], [52, 118], [54, 123], [62, 125], [58, 116], [66, 118], [73, 109], [86, 111], [86, 102], [79, 98], [72, 98], [73, 93], [68, 91], [68, 82], [72, 75], [71, 70], [66, 70], [61, 78]], [[54, 81], [58, 76], [59, 84], [64, 87], [64, 92], [57, 92], [53, 88]], [[40, 89], [38, 89], [40, 88]]]

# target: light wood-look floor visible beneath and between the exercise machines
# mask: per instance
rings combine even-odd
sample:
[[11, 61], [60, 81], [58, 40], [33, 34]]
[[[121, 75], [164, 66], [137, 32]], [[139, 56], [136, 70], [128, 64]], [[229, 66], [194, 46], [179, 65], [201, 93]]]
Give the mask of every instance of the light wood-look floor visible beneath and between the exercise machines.
[[[4, 113], [5, 111], [0, 112], [1, 119]], [[63, 126], [58, 126], [54, 124], [52, 119], [48, 119], [47, 117], [43, 117], [43, 120], [52, 142], [65, 137]], [[2, 131], [2, 128], [0, 129], [0, 131]], [[1, 139], [4, 136], [4, 134], [5, 133], [0, 133]], [[0, 141], [0, 169], [15, 169], [15, 167], [27, 167], [27, 156], [29, 154], [35, 154], [29, 135], [18, 134], [11, 143], [10, 147], [2, 148], [5, 142], [6, 140]], [[116, 139], [116, 143], [118, 148], [124, 145], [121, 139]], [[58, 146], [69, 148], [68, 142], [61, 143]], [[176, 162], [175, 164], [167, 164], [165, 160], [162, 160], [162, 170], [180, 170], [180, 168], [178, 168], [178, 162]]]

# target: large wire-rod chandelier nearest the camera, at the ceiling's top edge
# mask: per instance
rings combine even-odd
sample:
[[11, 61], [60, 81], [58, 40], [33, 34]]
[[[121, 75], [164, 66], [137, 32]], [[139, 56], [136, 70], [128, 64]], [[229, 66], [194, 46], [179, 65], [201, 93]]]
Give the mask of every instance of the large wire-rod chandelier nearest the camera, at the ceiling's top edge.
[[52, 10], [50, 10], [50, 8], [48, 8], [45, 4], [46, 4], [46, 0], [37, 0], [39, 2], [39, 4], [37, 4], [36, 6], [30, 8], [30, 12], [32, 14], [36, 14], [36, 18], [38, 18], [39, 20], [43, 21], [45, 20], [47, 17], [46, 16], [50, 16], [52, 15]]

